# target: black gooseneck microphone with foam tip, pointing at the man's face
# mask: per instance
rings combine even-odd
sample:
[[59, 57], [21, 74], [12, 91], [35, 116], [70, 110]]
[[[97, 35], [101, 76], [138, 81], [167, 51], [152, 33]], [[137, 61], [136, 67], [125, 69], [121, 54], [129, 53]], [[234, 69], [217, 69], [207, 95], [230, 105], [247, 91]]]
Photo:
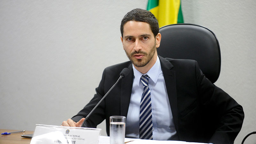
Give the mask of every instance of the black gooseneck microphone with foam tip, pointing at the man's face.
[[108, 95], [108, 93], [116, 86], [116, 84], [120, 81], [120, 79], [124, 78], [125, 76], [127, 76], [129, 73], [129, 68], [124, 68], [120, 74], [119, 74], [119, 78], [116, 81], [116, 83], [108, 90], [108, 92], [104, 95], [104, 97], [97, 103], [97, 105], [92, 109], [92, 111], [85, 117], [84, 122], [82, 123], [81, 127], [84, 127], [84, 124], [86, 122], [86, 120], [89, 118], [89, 116], [92, 114], [92, 112], [99, 106], [99, 104], [101, 103], [102, 100], [105, 99], [105, 97]]

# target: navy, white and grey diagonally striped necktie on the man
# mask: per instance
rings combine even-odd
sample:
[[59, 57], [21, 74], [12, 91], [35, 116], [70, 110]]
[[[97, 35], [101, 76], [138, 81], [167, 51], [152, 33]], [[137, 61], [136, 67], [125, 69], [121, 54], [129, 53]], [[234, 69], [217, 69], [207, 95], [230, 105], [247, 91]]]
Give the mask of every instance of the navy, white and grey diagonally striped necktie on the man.
[[144, 89], [140, 101], [140, 139], [153, 140], [151, 95], [148, 87], [148, 78], [148, 75], [143, 75], [140, 78]]

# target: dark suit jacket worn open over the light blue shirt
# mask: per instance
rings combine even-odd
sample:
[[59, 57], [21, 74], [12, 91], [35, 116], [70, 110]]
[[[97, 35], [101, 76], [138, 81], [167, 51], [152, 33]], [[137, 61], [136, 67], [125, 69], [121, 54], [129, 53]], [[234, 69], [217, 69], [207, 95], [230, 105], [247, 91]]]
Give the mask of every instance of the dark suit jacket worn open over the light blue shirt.
[[[234, 143], [244, 119], [244, 112], [233, 98], [212, 84], [195, 60], [177, 60], [159, 56], [178, 140], [214, 144]], [[86, 121], [94, 127], [109, 116], [127, 116], [133, 70], [130, 61], [105, 68], [92, 100], [72, 119], [86, 117], [115, 84], [123, 68], [130, 72], [116, 85]]]

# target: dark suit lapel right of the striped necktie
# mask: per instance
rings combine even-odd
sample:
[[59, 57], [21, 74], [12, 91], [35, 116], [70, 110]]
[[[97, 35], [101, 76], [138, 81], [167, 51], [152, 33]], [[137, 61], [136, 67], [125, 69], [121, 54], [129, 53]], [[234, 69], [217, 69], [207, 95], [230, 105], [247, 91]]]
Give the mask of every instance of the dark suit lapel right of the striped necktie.
[[170, 61], [164, 59], [161, 56], [159, 56], [159, 60], [164, 74], [164, 81], [166, 85], [167, 94], [169, 97], [169, 102], [171, 105], [174, 125], [178, 134], [179, 127], [175, 71], [171, 70], [173, 68], [173, 65]]

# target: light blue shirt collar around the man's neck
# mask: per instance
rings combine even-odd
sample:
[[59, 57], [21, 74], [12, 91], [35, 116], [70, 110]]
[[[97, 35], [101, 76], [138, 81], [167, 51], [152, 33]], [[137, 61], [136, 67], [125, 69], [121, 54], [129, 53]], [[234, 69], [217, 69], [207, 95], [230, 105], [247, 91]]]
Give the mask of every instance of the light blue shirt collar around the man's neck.
[[156, 59], [156, 63], [153, 65], [152, 68], [150, 68], [148, 70], [148, 72], [146, 74], [142, 74], [141, 72], [139, 72], [135, 67], [134, 65], [132, 64], [132, 69], [133, 69], [133, 76], [134, 76], [134, 79], [133, 79], [133, 83], [138, 85], [140, 84], [140, 77], [142, 75], [148, 75], [150, 77], [150, 79], [156, 84], [157, 82], [157, 79], [158, 79], [158, 76], [161, 72], [161, 64], [160, 64], [160, 60], [157, 56], [157, 59]]

